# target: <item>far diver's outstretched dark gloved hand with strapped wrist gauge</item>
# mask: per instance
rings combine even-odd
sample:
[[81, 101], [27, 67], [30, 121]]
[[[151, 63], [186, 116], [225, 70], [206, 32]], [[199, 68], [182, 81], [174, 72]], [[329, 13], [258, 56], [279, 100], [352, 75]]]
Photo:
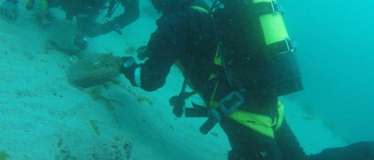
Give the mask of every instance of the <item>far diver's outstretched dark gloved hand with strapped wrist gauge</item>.
[[87, 29], [86, 34], [90, 38], [107, 34], [111, 31], [117, 31], [117, 33], [122, 34], [121, 31], [119, 31], [120, 29], [120, 26], [116, 24], [114, 21], [109, 21], [104, 24], [96, 22], [94, 27]]

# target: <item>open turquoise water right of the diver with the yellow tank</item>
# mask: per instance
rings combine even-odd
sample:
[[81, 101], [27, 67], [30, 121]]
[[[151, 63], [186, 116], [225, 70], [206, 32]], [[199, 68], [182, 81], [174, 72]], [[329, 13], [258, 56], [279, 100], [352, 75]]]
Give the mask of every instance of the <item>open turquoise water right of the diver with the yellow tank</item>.
[[279, 2], [303, 74], [304, 91], [292, 99], [347, 142], [373, 141], [374, 2]]

